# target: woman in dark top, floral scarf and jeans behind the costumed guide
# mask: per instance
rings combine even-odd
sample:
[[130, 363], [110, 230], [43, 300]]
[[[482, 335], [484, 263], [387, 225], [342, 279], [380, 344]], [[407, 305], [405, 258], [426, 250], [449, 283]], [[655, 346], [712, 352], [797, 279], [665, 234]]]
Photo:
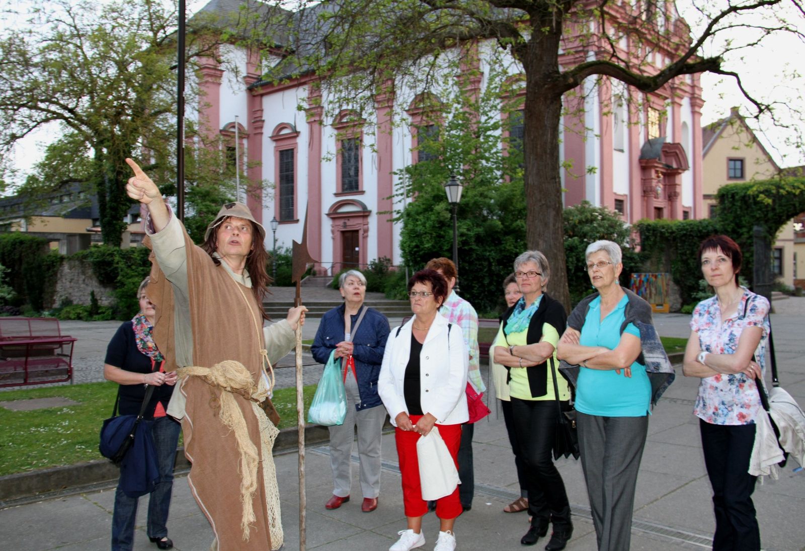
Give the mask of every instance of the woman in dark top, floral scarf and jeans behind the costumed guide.
[[[105, 379], [120, 385], [118, 404], [121, 415], [137, 415], [147, 387], [155, 387], [143, 416], [143, 419], [153, 420], [151, 435], [159, 467], [159, 478], [148, 500], [147, 533], [148, 539], [159, 549], [171, 549], [173, 542], [167, 537], [166, 524], [181, 425], [165, 413], [176, 383], [176, 372], [163, 371], [164, 358], [151, 335], [156, 309], [145, 293], [150, 279], [142, 280], [137, 292], [140, 311], [134, 319], [123, 323], [109, 342], [103, 374]], [[118, 484], [112, 513], [112, 551], [132, 549], [137, 503], [138, 498], [126, 495]]]

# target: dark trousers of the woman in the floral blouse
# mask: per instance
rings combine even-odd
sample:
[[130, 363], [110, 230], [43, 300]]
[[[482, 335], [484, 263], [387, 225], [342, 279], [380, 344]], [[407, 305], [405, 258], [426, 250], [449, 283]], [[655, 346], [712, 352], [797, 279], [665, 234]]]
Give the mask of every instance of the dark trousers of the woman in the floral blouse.
[[758, 551], [760, 528], [752, 492], [757, 477], [747, 472], [755, 425], [712, 425], [699, 420], [704, 465], [716, 514], [714, 551]]

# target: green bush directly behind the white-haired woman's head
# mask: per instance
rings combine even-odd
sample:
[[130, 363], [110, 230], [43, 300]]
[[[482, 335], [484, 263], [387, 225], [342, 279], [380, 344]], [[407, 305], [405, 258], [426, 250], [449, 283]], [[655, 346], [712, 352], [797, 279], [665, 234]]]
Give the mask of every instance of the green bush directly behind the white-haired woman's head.
[[606, 207], [592, 206], [589, 201], [568, 207], [564, 209], [563, 214], [564, 255], [568, 263], [571, 303], [576, 305], [592, 292], [584, 251], [590, 243], [599, 239], [607, 239], [621, 246], [623, 254], [621, 285], [629, 287], [632, 272], [640, 270], [640, 258], [634, 251], [630, 227], [621, 220], [621, 215]]

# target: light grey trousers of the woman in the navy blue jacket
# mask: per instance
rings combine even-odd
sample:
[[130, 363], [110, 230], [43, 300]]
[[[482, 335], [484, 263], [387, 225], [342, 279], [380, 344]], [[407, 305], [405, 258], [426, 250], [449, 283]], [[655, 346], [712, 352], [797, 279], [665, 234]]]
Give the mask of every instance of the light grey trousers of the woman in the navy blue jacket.
[[352, 450], [357, 425], [357, 453], [361, 459], [361, 491], [367, 498], [380, 495], [380, 436], [383, 422], [386, 421], [386, 408], [355, 411], [355, 404], [361, 401], [357, 382], [350, 371], [345, 383], [347, 394], [347, 415], [344, 425], [334, 425], [330, 429], [330, 466], [332, 467], [332, 494], [339, 497], [349, 495], [352, 486]]

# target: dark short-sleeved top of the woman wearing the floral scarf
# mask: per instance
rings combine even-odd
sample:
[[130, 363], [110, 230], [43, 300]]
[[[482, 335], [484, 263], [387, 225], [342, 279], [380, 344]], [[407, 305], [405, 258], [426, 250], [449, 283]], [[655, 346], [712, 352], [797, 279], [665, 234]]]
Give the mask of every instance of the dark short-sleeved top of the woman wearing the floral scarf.
[[[159, 363], [154, 365], [146, 354], [142, 354], [137, 348], [137, 340], [134, 338], [134, 325], [131, 321], [126, 321], [118, 327], [118, 332], [109, 341], [106, 347], [106, 358], [104, 363], [110, 366], [120, 367], [126, 371], [134, 373], [151, 373], [159, 371]], [[145, 418], [151, 419], [154, 416], [157, 401], [162, 402], [163, 408], [167, 409], [167, 403], [171, 400], [173, 387], [163, 384], [161, 387], [154, 388], [151, 395], [151, 403], [148, 404]], [[120, 415], [137, 415], [142, 406], [142, 400], [146, 397], [146, 386], [144, 384], [122, 384], [120, 385], [120, 403], [118, 412]]]

